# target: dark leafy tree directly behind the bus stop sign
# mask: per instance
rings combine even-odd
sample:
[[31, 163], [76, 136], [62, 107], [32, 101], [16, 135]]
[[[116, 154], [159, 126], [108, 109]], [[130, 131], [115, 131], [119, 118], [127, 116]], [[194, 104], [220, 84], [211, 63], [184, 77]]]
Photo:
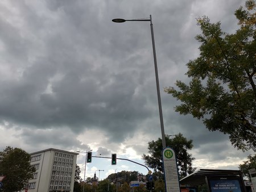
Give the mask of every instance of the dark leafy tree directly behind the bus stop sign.
[[[176, 152], [177, 167], [179, 169], [179, 176], [184, 177], [187, 174], [193, 173], [196, 168], [192, 167], [192, 161], [195, 160], [194, 157], [188, 150], [191, 150], [192, 140], [187, 140], [181, 133], [176, 135], [174, 138], [166, 137], [166, 145], [173, 148]], [[146, 162], [150, 168], [154, 169], [155, 172], [158, 170], [163, 172], [163, 162], [162, 162], [162, 139], [148, 142], [148, 153], [149, 155], [142, 155], [142, 159]]]

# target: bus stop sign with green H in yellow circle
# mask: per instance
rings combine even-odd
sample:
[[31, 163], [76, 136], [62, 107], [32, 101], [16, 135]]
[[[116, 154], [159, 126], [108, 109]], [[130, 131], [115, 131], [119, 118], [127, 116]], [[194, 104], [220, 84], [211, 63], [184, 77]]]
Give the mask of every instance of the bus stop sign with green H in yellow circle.
[[180, 192], [179, 176], [174, 149], [167, 147], [162, 151], [166, 192]]

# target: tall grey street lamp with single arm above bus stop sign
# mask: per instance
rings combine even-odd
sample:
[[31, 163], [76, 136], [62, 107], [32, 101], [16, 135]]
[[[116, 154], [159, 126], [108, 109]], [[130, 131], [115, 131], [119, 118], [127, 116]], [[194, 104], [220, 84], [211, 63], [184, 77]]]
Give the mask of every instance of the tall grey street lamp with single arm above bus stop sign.
[[164, 135], [164, 124], [163, 124], [163, 112], [162, 112], [162, 105], [161, 105], [161, 97], [160, 97], [160, 89], [159, 89], [159, 80], [158, 80], [158, 65], [156, 62], [156, 53], [155, 53], [155, 40], [154, 40], [154, 31], [153, 31], [153, 24], [152, 24], [152, 17], [150, 15], [149, 19], [113, 19], [115, 23], [123, 23], [123, 22], [150, 22], [151, 28], [151, 37], [152, 37], [152, 46], [153, 46], [153, 55], [154, 55], [154, 64], [155, 64], [155, 80], [156, 80], [156, 91], [158, 94], [158, 107], [159, 107], [159, 116], [160, 116], [160, 126], [162, 132], [162, 143], [163, 149], [166, 148], [166, 136]]

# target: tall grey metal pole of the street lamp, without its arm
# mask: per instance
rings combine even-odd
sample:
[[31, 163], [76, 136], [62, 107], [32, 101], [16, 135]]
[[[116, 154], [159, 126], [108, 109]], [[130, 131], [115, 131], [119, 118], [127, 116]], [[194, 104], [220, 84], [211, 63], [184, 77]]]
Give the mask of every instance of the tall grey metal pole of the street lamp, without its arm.
[[162, 132], [162, 144], [164, 149], [166, 148], [166, 136], [164, 134], [163, 112], [162, 112], [162, 104], [161, 104], [161, 97], [160, 97], [159, 80], [158, 80], [158, 65], [156, 62], [155, 39], [154, 39], [154, 31], [153, 31], [151, 15], [150, 15], [150, 28], [151, 28], [152, 46], [153, 46], [153, 55], [154, 55], [154, 64], [155, 64], [156, 91], [158, 93], [158, 107], [159, 107], [159, 116], [160, 116], [160, 126], [161, 126], [161, 132]]

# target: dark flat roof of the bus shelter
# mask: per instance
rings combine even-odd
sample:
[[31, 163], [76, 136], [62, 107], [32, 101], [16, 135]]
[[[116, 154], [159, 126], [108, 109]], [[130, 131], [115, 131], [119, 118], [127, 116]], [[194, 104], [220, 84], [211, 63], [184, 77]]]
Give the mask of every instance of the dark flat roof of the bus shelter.
[[242, 176], [240, 170], [199, 169], [180, 180], [181, 185], [199, 186], [206, 183], [205, 177]]

